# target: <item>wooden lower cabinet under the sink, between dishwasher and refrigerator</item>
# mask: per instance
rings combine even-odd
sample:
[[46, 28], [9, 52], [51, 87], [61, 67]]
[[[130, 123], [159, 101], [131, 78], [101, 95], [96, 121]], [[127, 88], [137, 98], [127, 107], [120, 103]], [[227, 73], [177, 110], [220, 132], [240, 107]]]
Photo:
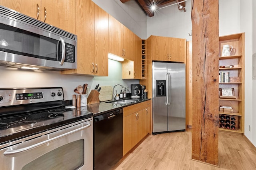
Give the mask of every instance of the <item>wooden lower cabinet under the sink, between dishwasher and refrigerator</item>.
[[151, 100], [124, 107], [123, 155], [151, 133]]

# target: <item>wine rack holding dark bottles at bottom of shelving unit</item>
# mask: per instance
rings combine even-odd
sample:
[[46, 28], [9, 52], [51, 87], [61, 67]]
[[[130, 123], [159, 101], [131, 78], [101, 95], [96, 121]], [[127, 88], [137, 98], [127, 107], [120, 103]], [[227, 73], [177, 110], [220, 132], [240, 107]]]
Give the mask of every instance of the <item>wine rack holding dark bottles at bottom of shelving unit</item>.
[[219, 127], [224, 129], [239, 130], [238, 116], [219, 114]]

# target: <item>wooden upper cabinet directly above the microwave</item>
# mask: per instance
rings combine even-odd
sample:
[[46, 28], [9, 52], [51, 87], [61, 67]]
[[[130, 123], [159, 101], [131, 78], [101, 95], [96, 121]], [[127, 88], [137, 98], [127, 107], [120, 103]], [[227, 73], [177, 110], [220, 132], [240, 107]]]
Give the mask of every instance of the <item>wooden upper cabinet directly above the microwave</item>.
[[74, 0], [0, 0], [0, 5], [75, 33]]

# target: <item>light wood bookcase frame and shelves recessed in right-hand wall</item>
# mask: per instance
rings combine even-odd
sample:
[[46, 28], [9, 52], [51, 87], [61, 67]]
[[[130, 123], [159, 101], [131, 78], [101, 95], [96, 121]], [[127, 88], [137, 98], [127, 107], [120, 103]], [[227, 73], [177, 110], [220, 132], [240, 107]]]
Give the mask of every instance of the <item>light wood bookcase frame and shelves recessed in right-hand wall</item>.
[[[229, 66], [234, 65], [234, 67], [229, 68], [219, 68], [220, 73], [228, 72], [229, 77], [240, 77], [239, 82], [220, 82], [219, 88], [234, 88], [234, 93], [237, 99], [232, 98], [219, 98], [219, 106], [228, 106], [232, 107], [234, 113], [223, 113], [223, 115], [234, 115], [238, 117], [238, 130], [219, 128], [219, 131], [226, 133], [234, 134], [243, 134], [244, 133], [244, 33], [237, 33], [232, 35], [225, 35], [219, 37], [219, 54], [222, 53], [222, 48], [224, 45], [232, 45], [233, 50], [231, 56], [220, 56], [219, 57], [219, 66]], [[223, 75], [224, 76], [224, 75]], [[220, 76], [222, 78], [222, 74]]]

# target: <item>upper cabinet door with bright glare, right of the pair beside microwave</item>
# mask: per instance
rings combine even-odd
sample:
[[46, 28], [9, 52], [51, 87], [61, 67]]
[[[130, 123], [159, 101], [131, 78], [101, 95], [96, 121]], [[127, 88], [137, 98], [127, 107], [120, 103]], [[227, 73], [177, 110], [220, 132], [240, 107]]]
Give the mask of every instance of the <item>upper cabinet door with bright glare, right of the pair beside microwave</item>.
[[95, 70], [97, 76], [108, 76], [108, 13], [95, 4]]

